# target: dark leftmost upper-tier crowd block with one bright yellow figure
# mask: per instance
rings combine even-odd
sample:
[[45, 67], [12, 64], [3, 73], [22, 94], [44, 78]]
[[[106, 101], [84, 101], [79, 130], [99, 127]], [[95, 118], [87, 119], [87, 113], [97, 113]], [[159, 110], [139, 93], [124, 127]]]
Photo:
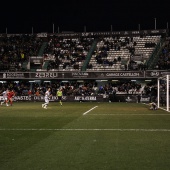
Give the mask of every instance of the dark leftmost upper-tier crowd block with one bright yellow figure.
[[42, 40], [35, 35], [0, 37], [0, 71], [23, 71], [22, 64], [37, 56]]

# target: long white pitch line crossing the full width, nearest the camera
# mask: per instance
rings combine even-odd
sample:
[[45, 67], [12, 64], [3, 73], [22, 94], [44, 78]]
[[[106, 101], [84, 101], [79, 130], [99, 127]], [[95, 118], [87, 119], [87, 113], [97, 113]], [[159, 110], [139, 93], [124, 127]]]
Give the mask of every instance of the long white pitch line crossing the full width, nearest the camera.
[[0, 131], [144, 131], [170, 132], [170, 129], [0, 129]]

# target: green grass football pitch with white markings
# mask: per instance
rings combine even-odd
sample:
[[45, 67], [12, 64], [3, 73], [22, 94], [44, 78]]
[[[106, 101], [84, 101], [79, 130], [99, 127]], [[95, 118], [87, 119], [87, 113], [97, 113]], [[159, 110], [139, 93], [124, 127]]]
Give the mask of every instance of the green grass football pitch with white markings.
[[139, 103], [0, 106], [0, 170], [169, 170], [170, 113]]

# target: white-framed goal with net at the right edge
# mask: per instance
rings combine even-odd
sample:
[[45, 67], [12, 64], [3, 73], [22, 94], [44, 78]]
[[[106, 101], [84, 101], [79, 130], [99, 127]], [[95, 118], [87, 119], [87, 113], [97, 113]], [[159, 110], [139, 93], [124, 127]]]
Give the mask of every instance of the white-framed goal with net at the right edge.
[[163, 75], [158, 78], [158, 94], [157, 94], [157, 105], [158, 108], [170, 112], [169, 104], [169, 81], [170, 75]]

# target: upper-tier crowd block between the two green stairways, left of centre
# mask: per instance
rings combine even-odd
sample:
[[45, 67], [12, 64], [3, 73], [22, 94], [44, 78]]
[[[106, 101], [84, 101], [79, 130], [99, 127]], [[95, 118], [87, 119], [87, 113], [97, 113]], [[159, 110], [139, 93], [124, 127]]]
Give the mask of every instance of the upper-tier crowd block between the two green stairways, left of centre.
[[80, 70], [93, 43], [93, 38], [64, 38], [53, 35], [44, 50], [44, 55], [53, 56], [47, 70], [68, 68]]

